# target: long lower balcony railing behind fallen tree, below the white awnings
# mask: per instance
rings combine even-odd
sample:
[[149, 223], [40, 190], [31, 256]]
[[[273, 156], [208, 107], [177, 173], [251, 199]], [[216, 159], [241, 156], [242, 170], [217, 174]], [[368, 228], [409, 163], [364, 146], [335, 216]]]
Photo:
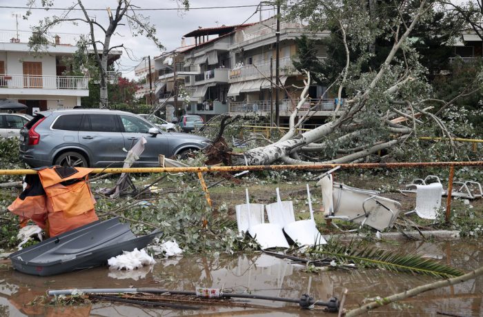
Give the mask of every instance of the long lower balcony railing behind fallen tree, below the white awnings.
[[[295, 100], [297, 102], [297, 100]], [[271, 101], [275, 111], [275, 101]], [[279, 101], [280, 111], [293, 111], [297, 105], [292, 105], [290, 99]], [[336, 107], [335, 99], [308, 99], [300, 108], [300, 111], [334, 111]], [[344, 100], [339, 110], [344, 109]], [[270, 101], [232, 101], [230, 102], [230, 112], [270, 112]]]

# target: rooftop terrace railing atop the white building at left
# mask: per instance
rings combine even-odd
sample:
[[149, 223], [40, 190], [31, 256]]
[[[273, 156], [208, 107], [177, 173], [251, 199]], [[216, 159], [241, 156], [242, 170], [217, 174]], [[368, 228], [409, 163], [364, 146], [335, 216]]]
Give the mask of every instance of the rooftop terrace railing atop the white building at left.
[[32, 35], [34, 33], [30, 31], [0, 30], [0, 42], [28, 43], [33, 38], [42, 44], [76, 46], [81, 37], [79, 34], [52, 32], [42, 34], [40, 37], [32, 37]]

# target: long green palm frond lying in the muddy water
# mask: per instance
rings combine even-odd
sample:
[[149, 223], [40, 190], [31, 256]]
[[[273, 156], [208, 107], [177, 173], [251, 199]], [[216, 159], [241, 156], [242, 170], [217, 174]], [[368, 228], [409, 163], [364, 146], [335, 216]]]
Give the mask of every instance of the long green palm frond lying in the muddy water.
[[375, 247], [364, 247], [359, 249], [351, 245], [324, 245], [312, 249], [311, 254], [315, 256], [333, 256], [341, 262], [352, 261], [356, 265], [365, 267], [377, 267], [393, 272], [406, 272], [423, 274], [442, 278], [462, 276], [464, 272], [455, 267], [444, 265], [429, 258], [423, 258], [417, 254], [397, 254]]

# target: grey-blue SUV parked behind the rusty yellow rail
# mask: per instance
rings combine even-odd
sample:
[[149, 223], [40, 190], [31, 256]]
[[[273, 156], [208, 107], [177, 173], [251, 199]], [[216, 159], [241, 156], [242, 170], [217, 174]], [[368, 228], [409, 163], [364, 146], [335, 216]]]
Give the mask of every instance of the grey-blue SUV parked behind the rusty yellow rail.
[[20, 158], [31, 167], [72, 165], [121, 166], [129, 150], [144, 136], [148, 143], [137, 166], [159, 166], [159, 154], [184, 156], [209, 140], [193, 134], [162, 132], [129, 112], [54, 110], [38, 112], [20, 131]]

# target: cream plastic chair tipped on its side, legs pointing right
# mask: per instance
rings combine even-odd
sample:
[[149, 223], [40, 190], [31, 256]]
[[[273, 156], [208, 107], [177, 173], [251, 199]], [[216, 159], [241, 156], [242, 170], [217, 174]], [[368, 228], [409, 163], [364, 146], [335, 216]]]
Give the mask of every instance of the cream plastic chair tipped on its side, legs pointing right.
[[[322, 187], [324, 216], [368, 225], [379, 231], [391, 227], [400, 214], [401, 204], [393, 199], [377, 196], [379, 192], [363, 190], [332, 181], [329, 174], [317, 185]], [[333, 223], [335, 227], [337, 225]], [[339, 227], [337, 227], [339, 228]], [[340, 228], [339, 228], [340, 229]], [[348, 230], [348, 232], [357, 229]]]

